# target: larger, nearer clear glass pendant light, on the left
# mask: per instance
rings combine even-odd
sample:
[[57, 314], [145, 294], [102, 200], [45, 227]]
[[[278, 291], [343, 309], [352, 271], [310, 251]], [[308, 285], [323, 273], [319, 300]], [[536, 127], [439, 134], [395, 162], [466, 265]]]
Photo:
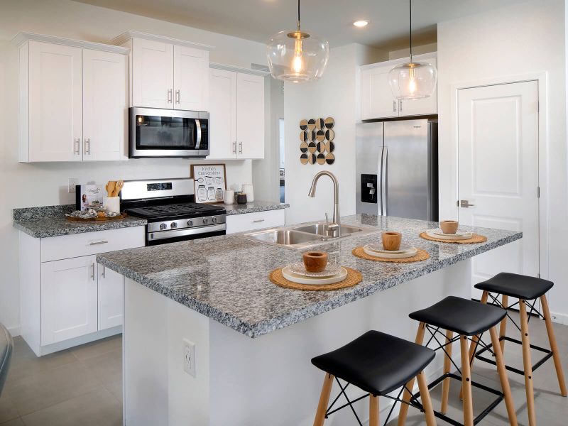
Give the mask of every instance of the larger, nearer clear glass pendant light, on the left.
[[271, 75], [287, 82], [310, 82], [322, 77], [329, 59], [329, 43], [300, 30], [300, 0], [297, 1], [297, 28], [280, 31], [266, 43]]

